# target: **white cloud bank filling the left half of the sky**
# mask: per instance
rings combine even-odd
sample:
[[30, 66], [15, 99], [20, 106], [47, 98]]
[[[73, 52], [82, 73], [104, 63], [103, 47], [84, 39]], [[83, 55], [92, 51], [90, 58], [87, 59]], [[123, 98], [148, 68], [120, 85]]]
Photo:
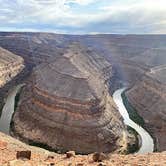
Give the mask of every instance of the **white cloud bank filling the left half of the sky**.
[[[95, 0], [17, 0], [15, 4], [7, 5], [3, 2], [1, 10], [10, 11], [6, 13], [6, 23], [51, 23], [52, 25], [63, 25], [80, 27], [100, 16], [97, 13], [74, 13], [69, 2], [87, 5]], [[3, 8], [3, 9], [2, 9]], [[0, 18], [1, 21], [1, 18]], [[4, 20], [3, 20], [4, 21]]]

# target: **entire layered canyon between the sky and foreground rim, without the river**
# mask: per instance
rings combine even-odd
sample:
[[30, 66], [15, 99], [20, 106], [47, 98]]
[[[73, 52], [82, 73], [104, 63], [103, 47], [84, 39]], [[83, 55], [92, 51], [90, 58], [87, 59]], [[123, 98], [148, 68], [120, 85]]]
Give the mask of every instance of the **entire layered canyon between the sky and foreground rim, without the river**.
[[[135, 137], [111, 95], [127, 86], [125, 96], [143, 117], [155, 151], [165, 151], [165, 43], [165, 35], [0, 33], [1, 105], [13, 86], [26, 84], [11, 135], [58, 152], [123, 153]], [[150, 156], [159, 162], [164, 154]]]

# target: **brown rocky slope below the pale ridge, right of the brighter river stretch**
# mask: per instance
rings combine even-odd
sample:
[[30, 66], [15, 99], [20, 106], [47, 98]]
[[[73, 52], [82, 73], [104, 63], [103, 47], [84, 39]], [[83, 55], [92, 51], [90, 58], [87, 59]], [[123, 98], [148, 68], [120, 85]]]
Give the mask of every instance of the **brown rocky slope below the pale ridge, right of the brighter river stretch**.
[[152, 70], [127, 92], [129, 101], [144, 118], [147, 129], [156, 139], [157, 151], [166, 150], [165, 71], [164, 68]]

